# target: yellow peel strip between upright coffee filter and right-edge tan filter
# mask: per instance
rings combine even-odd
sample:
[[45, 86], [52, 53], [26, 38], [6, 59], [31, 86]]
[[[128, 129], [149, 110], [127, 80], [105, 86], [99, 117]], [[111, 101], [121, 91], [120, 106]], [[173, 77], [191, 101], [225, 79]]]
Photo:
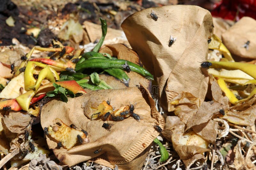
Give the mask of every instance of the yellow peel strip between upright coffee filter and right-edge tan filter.
[[209, 49], [215, 49], [223, 52], [223, 55], [228, 61], [235, 61], [226, 46], [222, 43], [221, 39], [217, 37], [217, 35], [213, 34], [212, 35], [212, 41], [209, 43], [208, 48]]

